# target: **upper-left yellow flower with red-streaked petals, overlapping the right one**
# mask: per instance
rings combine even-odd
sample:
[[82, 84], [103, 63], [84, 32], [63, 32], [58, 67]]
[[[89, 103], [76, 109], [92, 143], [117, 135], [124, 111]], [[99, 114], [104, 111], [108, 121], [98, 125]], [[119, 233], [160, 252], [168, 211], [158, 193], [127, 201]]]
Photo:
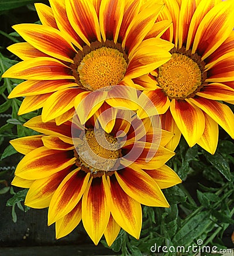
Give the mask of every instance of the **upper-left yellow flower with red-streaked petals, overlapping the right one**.
[[[167, 62], [173, 48], [159, 39], [170, 22], [154, 25], [163, 8], [160, 0], [50, 0], [50, 5], [35, 5], [42, 25], [13, 26], [26, 42], [8, 49], [23, 62], [3, 77], [26, 79], [9, 95], [25, 96], [19, 114], [43, 107], [43, 122], [56, 118], [60, 124], [95, 90], [125, 85], [119, 96], [134, 97], [128, 91], [129, 86], [137, 87], [132, 79], [140, 89], [155, 89], [144, 75]], [[152, 27], [158, 38], [148, 35], [143, 40]], [[101, 105], [99, 92], [99, 104], [91, 102], [94, 112]]]

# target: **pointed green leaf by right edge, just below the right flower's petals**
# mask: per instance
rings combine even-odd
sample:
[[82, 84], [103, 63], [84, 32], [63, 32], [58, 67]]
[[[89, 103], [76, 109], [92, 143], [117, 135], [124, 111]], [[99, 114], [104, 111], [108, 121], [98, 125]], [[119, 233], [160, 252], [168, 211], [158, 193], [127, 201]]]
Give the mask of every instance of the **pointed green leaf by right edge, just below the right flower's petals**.
[[[205, 151], [204, 151], [205, 152]], [[214, 155], [209, 154], [207, 152], [204, 153], [205, 158], [212, 164], [218, 171], [220, 171], [223, 176], [230, 181], [230, 167], [226, 159], [219, 153], [215, 153]]]

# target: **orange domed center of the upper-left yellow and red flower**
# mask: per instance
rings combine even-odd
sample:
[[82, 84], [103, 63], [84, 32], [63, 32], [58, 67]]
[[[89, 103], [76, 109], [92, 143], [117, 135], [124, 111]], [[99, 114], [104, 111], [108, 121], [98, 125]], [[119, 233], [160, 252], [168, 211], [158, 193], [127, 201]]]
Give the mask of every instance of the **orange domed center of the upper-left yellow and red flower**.
[[102, 47], [92, 50], [81, 60], [77, 68], [80, 83], [88, 90], [118, 85], [128, 64], [118, 49]]

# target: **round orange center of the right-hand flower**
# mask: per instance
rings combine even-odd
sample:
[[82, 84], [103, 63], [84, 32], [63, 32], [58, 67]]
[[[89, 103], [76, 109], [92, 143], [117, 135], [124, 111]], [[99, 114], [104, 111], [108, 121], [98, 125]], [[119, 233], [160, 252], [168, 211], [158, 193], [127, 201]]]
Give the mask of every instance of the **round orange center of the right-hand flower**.
[[157, 82], [168, 97], [184, 99], [202, 85], [202, 71], [190, 56], [172, 53], [172, 58], [159, 68]]

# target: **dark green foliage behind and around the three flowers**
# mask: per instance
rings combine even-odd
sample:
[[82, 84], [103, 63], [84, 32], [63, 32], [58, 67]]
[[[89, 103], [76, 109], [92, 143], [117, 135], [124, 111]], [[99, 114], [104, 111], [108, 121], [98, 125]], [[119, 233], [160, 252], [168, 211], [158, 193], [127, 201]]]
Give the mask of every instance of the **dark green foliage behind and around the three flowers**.
[[[33, 2], [36, 1], [0, 1], [0, 75], [19, 61], [6, 50], [6, 47], [12, 43], [22, 42], [11, 26], [15, 23], [39, 22]], [[23, 7], [19, 8], [20, 6]], [[17, 220], [15, 207], [23, 211], [27, 211], [28, 208], [21, 204], [25, 199], [26, 190], [15, 193], [9, 184], [13, 178], [14, 166], [22, 156], [16, 154], [15, 149], [8, 142], [17, 137], [34, 134], [22, 124], [40, 114], [39, 110], [18, 116], [22, 98], [8, 99], [7, 96], [20, 82], [22, 81], [18, 79], [0, 80], [0, 194], [12, 194], [6, 207], [12, 207], [12, 220], [15, 222]], [[233, 106], [230, 107], [234, 110]], [[114, 252], [122, 252], [123, 255], [150, 255], [152, 254], [150, 248], [154, 244], [188, 247], [192, 244], [197, 245], [199, 239], [204, 241], [203, 245], [230, 247], [231, 242], [228, 245], [223, 242], [223, 233], [230, 225], [234, 227], [234, 143], [222, 129], [219, 132], [218, 149], [214, 156], [199, 146], [189, 148], [185, 140], [181, 139], [176, 149], [177, 154], [168, 165], [184, 182], [163, 191], [171, 207], [143, 207], [140, 240], [121, 230], [111, 247]], [[104, 240], [102, 244], [107, 246]], [[174, 255], [174, 253], [168, 252], [166, 255]]]

